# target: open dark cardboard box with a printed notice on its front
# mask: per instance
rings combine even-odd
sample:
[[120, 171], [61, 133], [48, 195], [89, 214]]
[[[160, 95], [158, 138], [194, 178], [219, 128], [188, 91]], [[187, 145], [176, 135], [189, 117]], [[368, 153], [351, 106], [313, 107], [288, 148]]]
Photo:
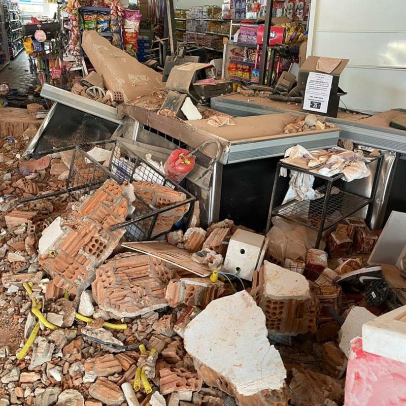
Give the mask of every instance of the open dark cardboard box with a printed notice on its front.
[[[340, 96], [347, 94], [339, 87], [340, 75], [344, 71], [344, 68], [349, 62], [349, 59], [337, 59], [337, 66], [334, 67], [334, 69], [332, 69], [332, 71], [330, 72], [321, 71], [320, 68], [318, 69], [318, 65], [325, 62], [326, 60], [332, 61], [333, 58], [323, 58], [320, 56], [309, 56], [308, 58], [306, 58], [306, 60], [300, 66], [299, 75], [297, 78], [297, 85], [302, 94], [302, 110], [322, 116], [337, 117]], [[311, 72], [320, 74], [319, 76], [324, 76], [326, 80], [331, 80], [331, 87], [328, 94], [328, 104], [326, 111], [323, 111], [323, 102], [319, 103], [319, 101], [313, 100], [310, 101], [311, 108], [307, 108], [306, 106], [306, 99], [311, 97], [309, 94], [306, 94], [308, 78]], [[332, 78], [329, 78], [330, 76]], [[322, 97], [324, 96], [320, 96], [320, 98]]]

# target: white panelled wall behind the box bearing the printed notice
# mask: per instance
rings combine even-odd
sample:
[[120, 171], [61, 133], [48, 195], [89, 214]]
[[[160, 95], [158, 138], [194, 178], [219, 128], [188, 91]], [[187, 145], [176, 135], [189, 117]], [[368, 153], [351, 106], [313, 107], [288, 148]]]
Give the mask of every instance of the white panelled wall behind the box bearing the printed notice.
[[406, 0], [312, 0], [307, 52], [350, 59], [340, 79], [348, 108], [406, 108], [405, 5]]

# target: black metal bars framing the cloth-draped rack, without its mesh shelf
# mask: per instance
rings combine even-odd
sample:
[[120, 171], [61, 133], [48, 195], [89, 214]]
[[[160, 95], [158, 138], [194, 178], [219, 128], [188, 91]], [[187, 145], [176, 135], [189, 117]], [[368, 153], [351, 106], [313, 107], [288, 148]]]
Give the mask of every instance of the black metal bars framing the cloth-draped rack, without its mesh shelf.
[[[327, 210], [329, 208], [329, 204], [331, 204], [331, 201], [330, 201], [331, 189], [332, 189], [332, 186], [333, 186], [334, 182], [343, 179], [344, 174], [340, 173], [340, 174], [329, 177], [329, 176], [319, 175], [319, 174], [317, 174], [315, 172], [312, 172], [312, 171], [309, 171], [309, 170], [306, 170], [306, 169], [303, 169], [303, 168], [300, 168], [300, 167], [297, 167], [297, 166], [289, 165], [287, 163], [279, 161], [278, 165], [277, 165], [276, 174], [275, 174], [274, 188], [272, 190], [272, 196], [271, 196], [271, 199], [270, 199], [268, 220], [267, 220], [267, 223], [266, 223], [266, 232], [268, 232], [268, 230], [270, 228], [270, 224], [272, 223], [272, 217], [273, 216], [282, 217], [282, 218], [284, 218], [286, 220], [289, 220], [289, 221], [292, 221], [292, 222], [294, 222], [296, 224], [300, 224], [300, 225], [302, 225], [304, 227], [308, 227], [308, 228], [312, 228], [312, 229], [316, 230], [317, 231], [317, 239], [316, 239], [315, 247], [318, 248], [319, 245], [320, 245], [320, 242], [321, 242], [323, 231], [327, 230], [328, 228], [330, 228], [334, 224], [337, 224], [340, 221], [344, 220], [346, 217], [349, 217], [349, 216], [353, 215], [358, 210], [362, 209], [365, 206], [368, 206], [372, 201], [374, 201], [375, 196], [376, 196], [376, 192], [377, 192], [377, 185], [378, 185], [379, 175], [381, 173], [382, 155], [380, 155], [379, 157], [371, 160], [370, 162], [373, 162], [375, 160], [378, 160], [378, 167], [377, 167], [377, 170], [375, 172], [373, 187], [372, 187], [370, 196], [369, 197], [361, 196], [361, 195], [359, 195], [357, 193], [348, 192], [348, 191], [345, 191], [345, 189], [340, 189], [341, 191], [346, 192], [346, 194], [348, 194], [348, 195], [363, 198], [364, 202], [362, 202], [361, 204], [355, 206], [353, 208], [353, 210], [346, 211], [345, 214], [343, 214], [341, 217], [335, 219], [334, 221], [330, 221], [328, 223], [328, 226], [325, 226], [325, 222], [326, 222]], [[308, 174], [308, 175], [311, 175], [311, 176], [313, 176], [315, 178], [323, 179], [325, 181], [324, 186], [321, 186], [318, 189], [316, 189], [318, 191], [324, 192], [323, 207], [322, 207], [322, 211], [321, 211], [321, 214], [320, 214], [320, 222], [319, 222], [318, 227], [316, 227], [314, 225], [311, 225], [311, 224], [308, 224], [306, 222], [297, 220], [297, 219], [295, 219], [293, 217], [290, 217], [288, 215], [284, 215], [284, 214], [281, 213], [281, 211], [286, 209], [288, 206], [292, 206], [292, 200], [288, 201], [287, 203], [285, 203], [285, 204], [283, 204], [281, 206], [278, 206], [278, 207], [274, 208], [275, 196], [276, 196], [276, 192], [278, 190], [281, 168], [286, 168], [286, 170], [289, 170], [289, 171], [295, 171], [295, 172], [300, 172], [300, 173], [303, 173], [303, 174]], [[322, 198], [323, 197], [321, 197], [320, 199], [322, 199]], [[320, 199], [308, 200], [309, 205], [311, 204], [312, 201], [319, 201]], [[301, 202], [297, 201], [297, 205], [299, 205], [299, 204], [301, 204]], [[370, 218], [370, 210], [368, 210], [367, 219], [368, 219], [368, 217]]]

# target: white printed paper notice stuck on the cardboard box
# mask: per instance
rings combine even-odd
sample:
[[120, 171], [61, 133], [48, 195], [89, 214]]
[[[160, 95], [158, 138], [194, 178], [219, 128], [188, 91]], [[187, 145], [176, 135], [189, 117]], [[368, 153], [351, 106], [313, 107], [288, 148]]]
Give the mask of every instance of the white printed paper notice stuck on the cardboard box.
[[309, 72], [304, 92], [303, 110], [327, 113], [332, 81], [332, 75]]

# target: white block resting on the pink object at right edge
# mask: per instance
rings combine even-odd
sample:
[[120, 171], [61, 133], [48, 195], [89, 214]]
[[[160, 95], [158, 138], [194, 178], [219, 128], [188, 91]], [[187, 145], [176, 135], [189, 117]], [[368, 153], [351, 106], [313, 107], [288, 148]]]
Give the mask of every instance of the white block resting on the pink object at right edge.
[[362, 349], [406, 363], [406, 306], [365, 323], [362, 326]]

